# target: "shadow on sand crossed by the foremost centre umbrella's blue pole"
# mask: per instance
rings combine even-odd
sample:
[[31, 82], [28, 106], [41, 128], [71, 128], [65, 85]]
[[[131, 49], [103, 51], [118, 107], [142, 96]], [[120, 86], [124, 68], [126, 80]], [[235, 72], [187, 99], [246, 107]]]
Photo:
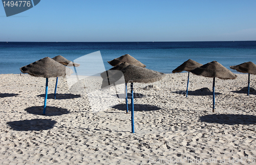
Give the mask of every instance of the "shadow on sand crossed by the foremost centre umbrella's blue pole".
[[[118, 104], [113, 106], [112, 108], [126, 111], [125, 104]], [[131, 109], [131, 105], [129, 105], [129, 109]], [[161, 109], [158, 106], [148, 105], [148, 104], [134, 104], [134, 111], [152, 111], [152, 110], [159, 110]]]

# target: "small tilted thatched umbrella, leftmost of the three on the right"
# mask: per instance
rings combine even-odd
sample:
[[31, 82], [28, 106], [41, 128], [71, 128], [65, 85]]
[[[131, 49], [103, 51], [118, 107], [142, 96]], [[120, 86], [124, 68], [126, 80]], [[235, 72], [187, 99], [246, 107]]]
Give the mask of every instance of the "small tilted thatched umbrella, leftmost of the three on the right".
[[[187, 90], [188, 90], [188, 83], [189, 83], [189, 73], [191, 70], [202, 66], [201, 63], [198, 63], [194, 60], [188, 59], [187, 61], [183, 62], [183, 64], [181, 64], [180, 66], [178, 66], [176, 69], [173, 70], [173, 73], [180, 73], [182, 71], [187, 71], [188, 72], [188, 76], [187, 76]], [[186, 90], [186, 98], [187, 98], [187, 90]]]

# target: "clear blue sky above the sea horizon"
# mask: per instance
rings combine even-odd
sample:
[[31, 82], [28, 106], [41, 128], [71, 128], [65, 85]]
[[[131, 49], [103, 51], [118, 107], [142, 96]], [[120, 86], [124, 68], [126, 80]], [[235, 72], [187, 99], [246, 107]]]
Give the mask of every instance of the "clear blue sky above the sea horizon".
[[256, 40], [256, 1], [41, 0], [6, 17], [0, 41]]

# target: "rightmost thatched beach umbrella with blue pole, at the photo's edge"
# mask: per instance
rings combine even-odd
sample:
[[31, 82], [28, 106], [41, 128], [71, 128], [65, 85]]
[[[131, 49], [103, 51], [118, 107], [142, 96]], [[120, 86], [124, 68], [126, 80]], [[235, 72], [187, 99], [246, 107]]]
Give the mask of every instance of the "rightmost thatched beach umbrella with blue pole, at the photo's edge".
[[250, 92], [250, 74], [256, 75], [256, 65], [249, 61], [244, 62], [239, 65], [229, 66], [231, 69], [236, 69], [238, 72], [248, 73], [248, 92], [247, 95], [249, 96]]

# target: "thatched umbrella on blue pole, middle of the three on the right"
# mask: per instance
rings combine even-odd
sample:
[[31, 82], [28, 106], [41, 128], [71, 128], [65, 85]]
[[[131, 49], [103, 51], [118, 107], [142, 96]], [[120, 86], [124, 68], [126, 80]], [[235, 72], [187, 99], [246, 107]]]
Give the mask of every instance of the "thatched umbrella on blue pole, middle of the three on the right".
[[215, 110], [215, 78], [218, 77], [220, 79], [235, 79], [237, 75], [234, 75], [230, 70], [224, 67], [217, 61], [212, 61], [207, 64], [204, 64], [200, 67], [195, 68], [190, 71], [191, 73], [204, 77], [212, 77], [214, 78], [214, 82], [212, 84], [212, 112]]

